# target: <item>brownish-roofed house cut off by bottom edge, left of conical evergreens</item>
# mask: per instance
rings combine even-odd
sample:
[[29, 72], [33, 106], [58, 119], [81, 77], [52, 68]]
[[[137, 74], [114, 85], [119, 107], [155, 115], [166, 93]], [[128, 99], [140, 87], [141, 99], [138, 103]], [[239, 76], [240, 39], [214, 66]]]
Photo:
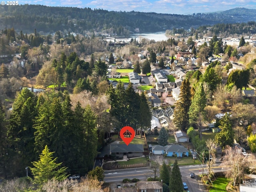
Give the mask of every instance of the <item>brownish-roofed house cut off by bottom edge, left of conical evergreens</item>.
[[163, 186], [160, 181], [138, 181], [136, 190], [137, 192], [163, 192]]

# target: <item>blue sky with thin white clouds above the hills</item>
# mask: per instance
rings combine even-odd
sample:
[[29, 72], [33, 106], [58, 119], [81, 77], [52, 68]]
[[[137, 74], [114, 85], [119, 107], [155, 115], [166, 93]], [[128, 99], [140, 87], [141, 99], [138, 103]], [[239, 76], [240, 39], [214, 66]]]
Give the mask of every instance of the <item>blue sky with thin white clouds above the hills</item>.
[[256, 9], [256, 0], [19, 0], [19, 4], [41, 4], [97, 8], [108, 11], [139, 11], [168, 14], [215, 12], [237, 7]]

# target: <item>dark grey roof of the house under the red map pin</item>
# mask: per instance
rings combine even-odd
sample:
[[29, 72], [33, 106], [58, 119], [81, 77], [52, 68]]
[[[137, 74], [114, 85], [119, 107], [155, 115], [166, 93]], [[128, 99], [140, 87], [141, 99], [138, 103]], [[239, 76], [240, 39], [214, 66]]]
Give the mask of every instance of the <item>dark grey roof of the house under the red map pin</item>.
[[110, 152], [144, 152], [144, 148], [142, 144], [112, 144]]

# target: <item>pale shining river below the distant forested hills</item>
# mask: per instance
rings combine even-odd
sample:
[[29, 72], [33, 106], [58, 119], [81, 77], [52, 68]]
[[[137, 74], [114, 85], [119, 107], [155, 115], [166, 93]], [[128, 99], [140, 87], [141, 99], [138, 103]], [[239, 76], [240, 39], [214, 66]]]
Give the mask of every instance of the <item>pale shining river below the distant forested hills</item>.
[[165, 32], [156, 32], [156, 33], [135, 33], [135, 34], [130, 34], [130, 38], [107, 38], [108, 41], [116, 42], [118, 41], [124, 41], [128, 42], [131, 40], [131, 38], [135, 38], [140, 42], [143, 38], [149, 39], [149, 40], [154, 40], [154, 41], [165, 41], [168, 40], [168, 37], [165, 36]]

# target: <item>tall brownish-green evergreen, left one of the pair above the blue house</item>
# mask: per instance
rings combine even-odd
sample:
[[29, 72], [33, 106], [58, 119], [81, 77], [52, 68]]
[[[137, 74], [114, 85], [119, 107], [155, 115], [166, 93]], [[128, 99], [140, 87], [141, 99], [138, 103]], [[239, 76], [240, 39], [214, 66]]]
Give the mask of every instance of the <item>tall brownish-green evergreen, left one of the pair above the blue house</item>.
[[182, 81], [179, 100], [174, 109], [174, 124], [179, 130], [186, 131], [189, 126], [188, 111], [191, 105], [190, 83], [188, 79]]

